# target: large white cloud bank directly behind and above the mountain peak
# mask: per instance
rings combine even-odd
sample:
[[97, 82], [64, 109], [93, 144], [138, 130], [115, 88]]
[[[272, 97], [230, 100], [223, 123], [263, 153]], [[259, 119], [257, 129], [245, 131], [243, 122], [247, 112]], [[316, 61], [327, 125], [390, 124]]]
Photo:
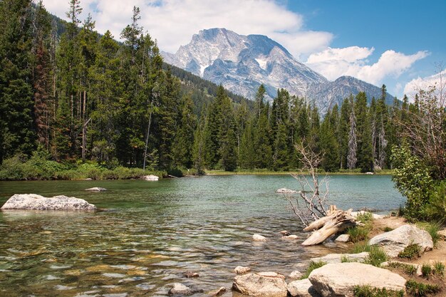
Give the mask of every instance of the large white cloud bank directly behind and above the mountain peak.
[[[68, 0], [43, 0], [43, 4], [60, 17], [68, 11]], [[83, 16], [93, 15], [99, 32], [110, 30], [115, 38], [130, 23], [133, 6], [140, 7], [140, 24], [162, 50], [172, 53], [205, 28], [266, 35], [296, 58], [323, 50], [333, 38], [328, 32], [305, 31], [302, 16], [274, 0], [83, 0], [81, 6]]]

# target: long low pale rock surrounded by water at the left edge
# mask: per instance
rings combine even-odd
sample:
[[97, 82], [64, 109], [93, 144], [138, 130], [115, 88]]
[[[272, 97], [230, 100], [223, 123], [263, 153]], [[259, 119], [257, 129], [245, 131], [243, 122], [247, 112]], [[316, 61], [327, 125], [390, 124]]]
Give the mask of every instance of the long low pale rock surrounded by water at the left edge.
[[84, 199], [63, 195], [47, 198], [37, 194], [15, 194], [1, 209], [96, 210], [96, 207]]

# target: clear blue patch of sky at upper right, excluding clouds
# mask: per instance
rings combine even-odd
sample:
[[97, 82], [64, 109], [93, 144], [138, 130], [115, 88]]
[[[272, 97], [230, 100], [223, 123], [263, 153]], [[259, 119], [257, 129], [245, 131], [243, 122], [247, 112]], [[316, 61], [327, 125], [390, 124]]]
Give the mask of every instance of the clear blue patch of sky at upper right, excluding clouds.
[[[388, 50], [405, 54], [427, 51], [400, 77], [385, 78], [391, 91], [395, 85], [437, 71], [446, 63], [446, 1], [308, 1], [290, 0], [286, 6], [304, 17], [305, 28], [333, 33], [330, 46], [375, 48], [368, 57], [378, 61]], [[400, 95], [395, 93], [395, 95]]]

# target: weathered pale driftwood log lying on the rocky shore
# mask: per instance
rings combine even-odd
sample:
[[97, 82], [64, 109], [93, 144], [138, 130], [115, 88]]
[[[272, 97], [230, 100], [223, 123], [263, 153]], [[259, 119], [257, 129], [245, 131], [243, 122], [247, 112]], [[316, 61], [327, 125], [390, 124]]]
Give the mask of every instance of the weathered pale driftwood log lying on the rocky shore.
[[336, 234], [344, 229], [351, 226], [361, 226], [361, 222], [357, 222], [356, 218], [351, 215], [352, 209], [348, 211], [343, 211], [340, 209], [333, 208], [329, 212], [328, 216], [317, 219], [313, 223], [306, 226], [304, 231], [313, 231], [313, 234], [302, 243], [304, 246], [313, 246], [316, 244], [321, 244], [328, 237]]

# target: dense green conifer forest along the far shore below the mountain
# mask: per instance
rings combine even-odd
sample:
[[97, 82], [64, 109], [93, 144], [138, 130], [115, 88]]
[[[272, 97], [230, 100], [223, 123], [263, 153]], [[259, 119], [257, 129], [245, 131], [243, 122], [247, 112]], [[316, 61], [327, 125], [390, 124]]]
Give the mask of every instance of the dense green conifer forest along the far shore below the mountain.
[[303, 141], [328, 172], [370, 172], [391, 167], [400, 124], [418, 109], [407, 97], [385, 105], [385, 85], [381, 98], [350, 96], [323, 118], [283, 89], [272, 103], [263, 85], [253, 103], [229, 97], [166, 67], [138, 7], [121, 43], [98, 34], [91, 16], [81, 22], [81, 11], [71, 0], [61, 30], [41, 1], [0, 1], [0, 162], [38, 152], [109, 169], [296, 170]]

